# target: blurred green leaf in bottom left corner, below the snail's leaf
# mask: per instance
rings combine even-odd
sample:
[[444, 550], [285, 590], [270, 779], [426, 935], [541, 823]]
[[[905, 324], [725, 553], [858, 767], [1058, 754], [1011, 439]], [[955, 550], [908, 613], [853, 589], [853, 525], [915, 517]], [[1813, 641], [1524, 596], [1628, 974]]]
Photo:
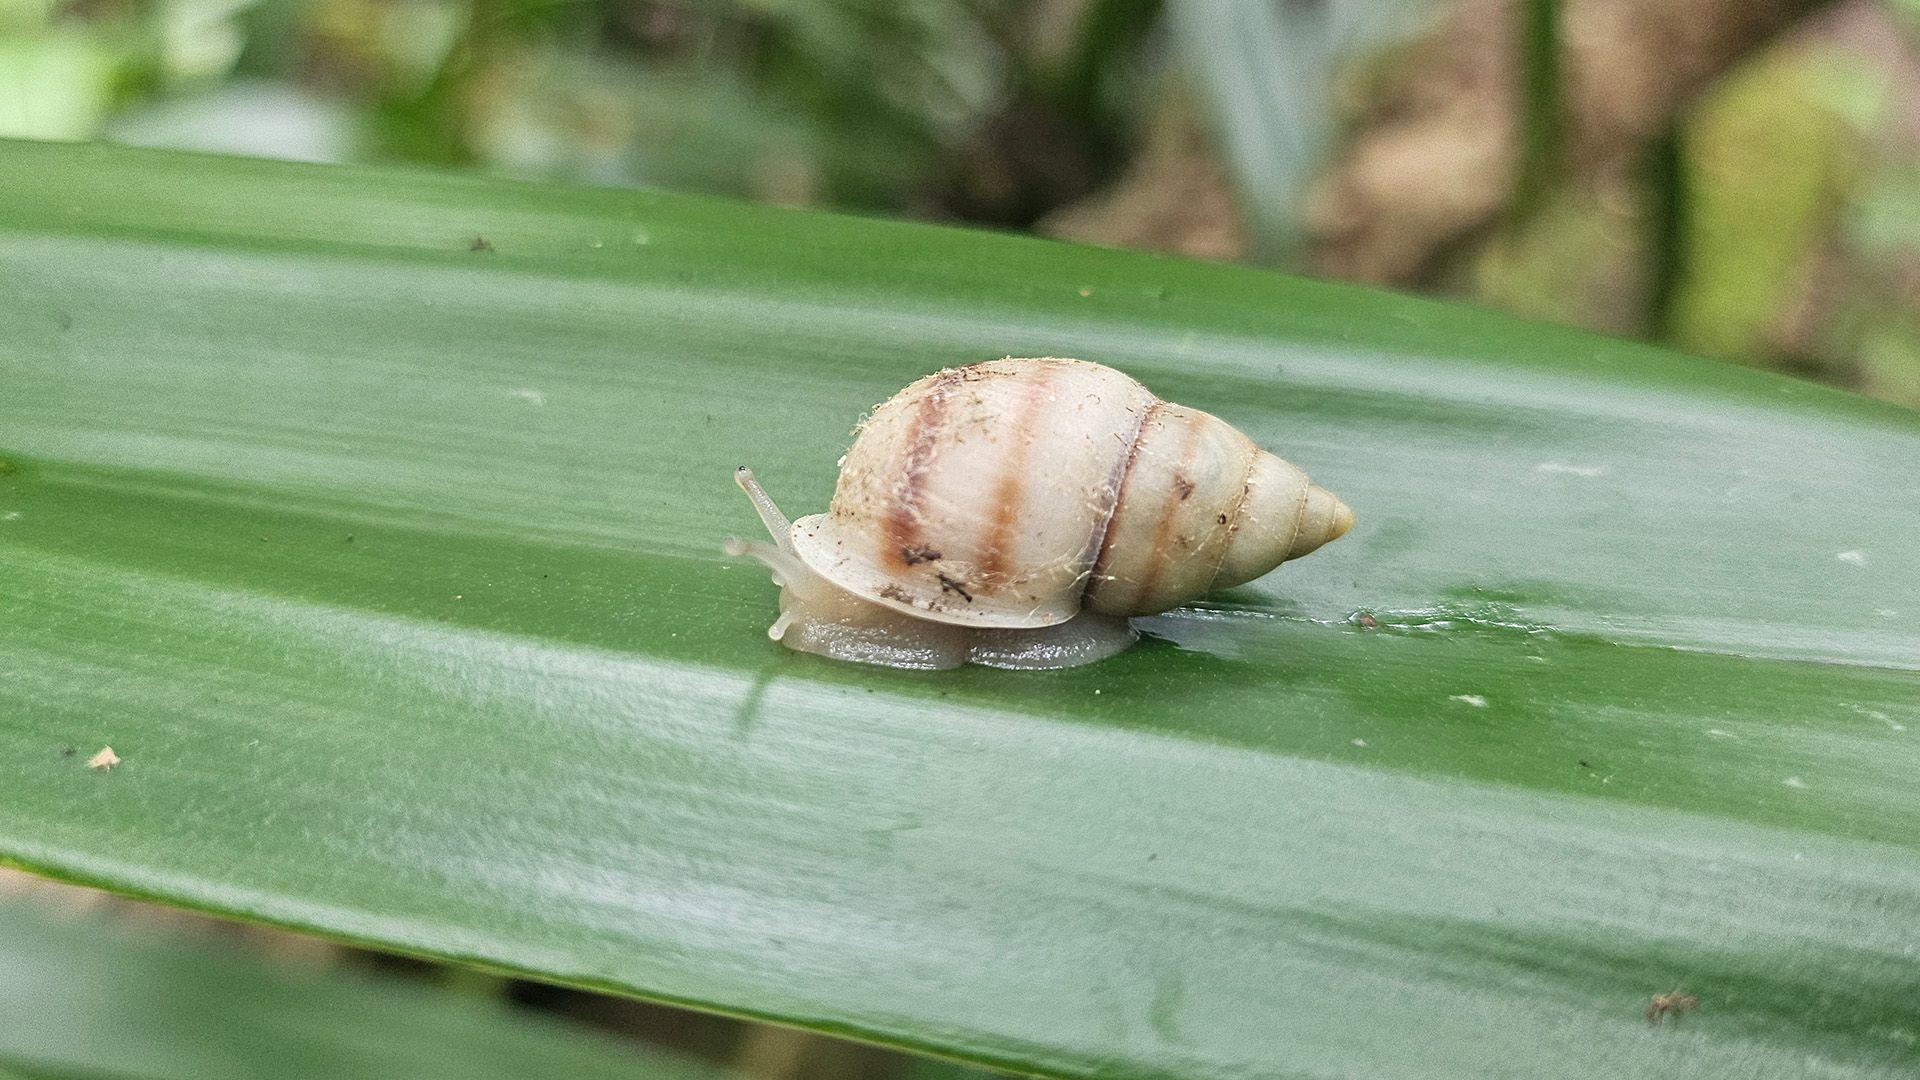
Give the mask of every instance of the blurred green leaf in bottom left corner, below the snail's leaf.
[[732, 1076], [497, 1001], [21, 899], [0, 903], [0, 1076]]

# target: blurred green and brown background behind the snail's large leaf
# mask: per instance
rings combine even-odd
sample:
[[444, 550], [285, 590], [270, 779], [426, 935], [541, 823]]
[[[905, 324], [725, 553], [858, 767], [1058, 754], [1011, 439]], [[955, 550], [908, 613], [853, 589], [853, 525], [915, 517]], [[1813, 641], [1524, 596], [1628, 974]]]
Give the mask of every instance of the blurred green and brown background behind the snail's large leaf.
[[[1920, 0], [0, 0], [0, 136], [1031, 231], [1920, 407]], [[445, 984], [751, 1076], [966, 1074], [17, 874], [0, 903]]]

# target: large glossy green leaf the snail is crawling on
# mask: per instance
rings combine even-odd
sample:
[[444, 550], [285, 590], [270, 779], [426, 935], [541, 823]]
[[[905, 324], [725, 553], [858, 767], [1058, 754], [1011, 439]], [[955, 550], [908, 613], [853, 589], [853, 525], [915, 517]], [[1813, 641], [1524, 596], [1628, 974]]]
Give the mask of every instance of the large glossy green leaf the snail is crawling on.
[[[0, 188], [8, 859], [1062, 1076], [1920, 1053], [1914, 413], [645, 192], [25, 144]], [[1075, 671], [768, 642], [730, 469], [818, 509], [862, 409], [1004, 354], [1359, 525]]]

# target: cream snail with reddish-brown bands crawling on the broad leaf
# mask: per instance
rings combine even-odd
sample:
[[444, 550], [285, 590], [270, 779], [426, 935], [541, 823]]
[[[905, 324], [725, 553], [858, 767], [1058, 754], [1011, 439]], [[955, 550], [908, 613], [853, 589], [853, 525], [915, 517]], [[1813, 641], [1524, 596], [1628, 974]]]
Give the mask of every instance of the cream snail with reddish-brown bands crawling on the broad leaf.
[[828, 513], [789, 523], [733, 475], [774, 544], [768, 636], [891, 667], [1075, 667], [1131, 615], [1254, 580], [1354, 513], [1225, 421], [1083, 359], [927, 375], [860, 423]]

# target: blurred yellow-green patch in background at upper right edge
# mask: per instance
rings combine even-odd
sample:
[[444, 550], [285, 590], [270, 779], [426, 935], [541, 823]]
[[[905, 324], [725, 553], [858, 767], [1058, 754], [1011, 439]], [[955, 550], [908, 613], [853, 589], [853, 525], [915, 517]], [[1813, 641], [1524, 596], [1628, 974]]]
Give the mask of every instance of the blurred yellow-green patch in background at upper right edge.
[[1920, 405], [1914, 71], [1793, 42], [1695, 110], [1676, 344]]

